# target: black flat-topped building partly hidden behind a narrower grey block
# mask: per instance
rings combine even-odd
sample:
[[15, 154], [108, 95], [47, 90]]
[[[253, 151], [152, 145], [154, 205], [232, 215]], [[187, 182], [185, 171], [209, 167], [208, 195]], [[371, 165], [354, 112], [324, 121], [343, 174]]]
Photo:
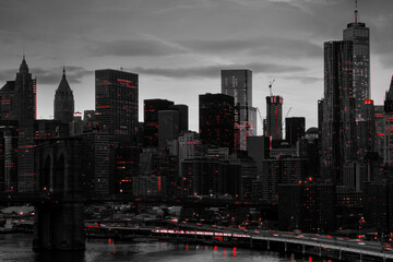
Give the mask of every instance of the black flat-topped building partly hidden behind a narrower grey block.
[[166, 99], [144, 100], [143, 141], [144, 146], [158, 146], [158, 111], [168, 110], [174, 102]]

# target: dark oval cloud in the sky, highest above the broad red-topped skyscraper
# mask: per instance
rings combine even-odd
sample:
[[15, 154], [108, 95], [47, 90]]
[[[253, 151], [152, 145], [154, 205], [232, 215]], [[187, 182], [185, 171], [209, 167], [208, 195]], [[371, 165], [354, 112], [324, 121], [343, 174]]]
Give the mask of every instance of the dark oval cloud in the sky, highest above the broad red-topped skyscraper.
[[130, 39], [99, 43], [90, 48], [91, 56], [119, 56], [119, 57], [163, 57], [174, 53], [181, 53], [186, 50], [177, 45], [165, 43], [158, 39]]

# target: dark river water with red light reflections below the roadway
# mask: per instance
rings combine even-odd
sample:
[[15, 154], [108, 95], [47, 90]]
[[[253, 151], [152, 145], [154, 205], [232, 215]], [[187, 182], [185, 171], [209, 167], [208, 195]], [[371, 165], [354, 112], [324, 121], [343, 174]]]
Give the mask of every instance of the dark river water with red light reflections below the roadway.
[[[117, 242], [112, 239], [88, 239], [84, 252], [39, 252], [32, 249], [32, 235], [0, 235], [0, 261], [24, 262], [221, 262], [221, 261], [310, 261], [285, 258], [276, 252], [239, 248], [168, 242]], [[288, 258], [289, 257], [289, 258]], [[311, 260], [312, 261], [312, 260]], [[314, 260], [317, 261], [317, 260]]]

